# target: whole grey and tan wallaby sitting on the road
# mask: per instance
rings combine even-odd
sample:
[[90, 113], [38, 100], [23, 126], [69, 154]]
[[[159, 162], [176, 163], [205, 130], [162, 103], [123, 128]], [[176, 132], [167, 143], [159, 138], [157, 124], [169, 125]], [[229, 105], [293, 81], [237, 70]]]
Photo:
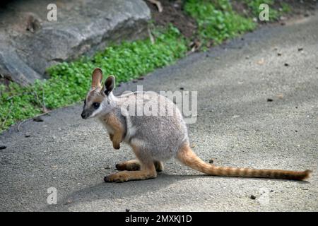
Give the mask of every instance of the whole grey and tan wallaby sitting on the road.
[[[121, 162], [117, 169], [124, 170], [105, 177], [105, 182], [126, 182], [157, 177], [163, 170], [163, 161], [170, 157], [199, 172], [222, 177], [265, 177], [275, 179], [303, 180], [310, 177], [311, 171], [288, 171], [281, 169], [249, 169], [218, 167], [201, 160], [189, 145], [187, 126], [177, 106], [167, 97], [154, 92], [129, 93], [114, 96], [115, 78], [109, 76], [105, 85], [102, 70], [95, 69], [92, 85], [84, 101], [81, 117], [97, 117], [104, 124], [115, 149], [120, 143], [128, 143], [134, 150], [136, 160]], [[142, 94], [142, 98], [138, 95]], [[142, 100], [140, 100], [142, 99]], [[130, 107], [145, 107], [151, 102], [160, 105], [160, 111], [172, 114], [146, 116], [131, 114]], [[129, 106], [129, 107], [126, 107]], [[136, 111], [134, 111], [136, 113]]]

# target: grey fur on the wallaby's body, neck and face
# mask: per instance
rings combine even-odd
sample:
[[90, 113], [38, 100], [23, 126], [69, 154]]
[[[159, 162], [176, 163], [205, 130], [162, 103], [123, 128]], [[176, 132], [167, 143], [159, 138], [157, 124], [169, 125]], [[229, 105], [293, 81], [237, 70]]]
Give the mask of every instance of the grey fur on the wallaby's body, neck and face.
[[[104, 89], [105, 87], [90, 91], [88, 96], [104, 95], [102, 92]], [[91, 103], [86, 103], [86, 105], [91, 105]], [[138, 111], [143, 112], [142, 109], [149, 105], [158, 106], [158, 111], [154, 111], [157, 115], [136, 115]], [[131, 107], [135, 107], [136, 110], [130, 112]], [[160, 107], [162, 108], [160, 109]], [[91, 108], [87, 107], [87, 109]], [[159, 115], [159, 111], [165, 114]], [[129, 93], [117, 97], [112, 93], [104, 95], [100, 108], [91, 115], [98, 117], [105, 124], [103, 119], [106, 114], [114, 114], [122, 121], [125, 129], [122, 141], [139, 147], [140, 155], [137, 158], [144, 164], [175, 157], [179, 148], [189, 142], [187, 126], [181, 112], [172, 101], [158, 93]], [[107, 124], [105, 124], [105, 128], [109, 133], [113, 132]]]

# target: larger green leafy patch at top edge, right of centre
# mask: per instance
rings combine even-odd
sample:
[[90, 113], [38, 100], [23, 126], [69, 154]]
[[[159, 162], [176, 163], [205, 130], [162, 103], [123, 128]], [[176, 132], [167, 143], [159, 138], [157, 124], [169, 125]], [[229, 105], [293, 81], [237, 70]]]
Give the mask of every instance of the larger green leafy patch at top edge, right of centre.
[[184, 5], [184, 11], [196, 19], [203, 46], [211, 40], [219, 44], [256, 27], [251, 18], [244, 18], [235, 13], [228, 0], [218, 0], [215, 4], [205, 0], [188, 0]]

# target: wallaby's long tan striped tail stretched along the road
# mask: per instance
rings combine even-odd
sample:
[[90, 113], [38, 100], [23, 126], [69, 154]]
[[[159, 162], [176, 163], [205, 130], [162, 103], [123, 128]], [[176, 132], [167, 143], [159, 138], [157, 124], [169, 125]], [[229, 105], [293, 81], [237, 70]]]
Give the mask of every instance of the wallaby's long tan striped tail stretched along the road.
[[177, 153], [177, 158], [184, 164], [199, 172], [213, 176], [221, 177], [263, 177], [273, 179], [293, 179], [304, 180], [310, 177], [312, 171], [290, 171], [281, 169], [250, 169], [250, 168], [235, 168], [235, 167], [217, 167], [210, 165], [199, 158], [185, 144]]

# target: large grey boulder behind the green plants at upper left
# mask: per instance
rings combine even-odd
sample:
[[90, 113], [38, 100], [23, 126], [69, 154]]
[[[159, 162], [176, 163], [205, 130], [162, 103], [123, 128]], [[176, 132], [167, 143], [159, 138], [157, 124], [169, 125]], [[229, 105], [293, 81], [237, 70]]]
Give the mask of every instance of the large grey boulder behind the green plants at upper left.
[[[57, 21], [47, 19], [51, 3]], [[0, 76], [33, 83], [48, 66], [146, 35], [150, 18], [142, 0], [9, 2], [0, 9]]]

